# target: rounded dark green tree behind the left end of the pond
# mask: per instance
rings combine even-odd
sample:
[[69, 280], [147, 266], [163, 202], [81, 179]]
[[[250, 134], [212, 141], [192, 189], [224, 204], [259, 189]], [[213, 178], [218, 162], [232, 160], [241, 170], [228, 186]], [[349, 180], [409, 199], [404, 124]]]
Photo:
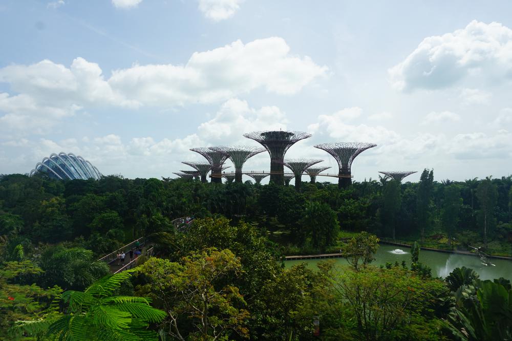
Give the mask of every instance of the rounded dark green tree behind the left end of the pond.
[[301, 225], [307, 235], [311, 235], [313, 247], [318, 248], [320, 252], [334, 244], [339, 230], [336, 212], [326, 203], [315, 201], [307, 204]]

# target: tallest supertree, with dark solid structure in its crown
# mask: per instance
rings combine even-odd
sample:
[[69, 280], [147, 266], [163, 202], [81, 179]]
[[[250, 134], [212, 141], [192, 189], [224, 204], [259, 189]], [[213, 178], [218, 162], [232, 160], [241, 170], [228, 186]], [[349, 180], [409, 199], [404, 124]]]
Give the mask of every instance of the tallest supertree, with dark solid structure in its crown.
[[311, 137], [311, 134], [278, 130], [246, 133], [244, 137], [252, 139], [265, 147], [270, 155], [270, 182], [282, 185], [284, 180], [283, 162], [288, 148], [300, 140]]

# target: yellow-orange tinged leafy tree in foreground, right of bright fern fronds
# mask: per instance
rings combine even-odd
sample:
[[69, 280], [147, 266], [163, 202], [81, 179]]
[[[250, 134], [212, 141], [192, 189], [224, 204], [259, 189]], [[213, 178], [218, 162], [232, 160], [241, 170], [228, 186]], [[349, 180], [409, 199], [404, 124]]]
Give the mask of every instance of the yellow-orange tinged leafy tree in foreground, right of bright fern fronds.
[[239, 289], [226, 282], [240, 270], [227, 249], [194, 252], [182, 264], [151, 258], [137, 268], [145, 282], [138, 290], [159, 301], [167, 333], [176, 339], [227, 339], [233, 331], [246, 337], [249, 312]]

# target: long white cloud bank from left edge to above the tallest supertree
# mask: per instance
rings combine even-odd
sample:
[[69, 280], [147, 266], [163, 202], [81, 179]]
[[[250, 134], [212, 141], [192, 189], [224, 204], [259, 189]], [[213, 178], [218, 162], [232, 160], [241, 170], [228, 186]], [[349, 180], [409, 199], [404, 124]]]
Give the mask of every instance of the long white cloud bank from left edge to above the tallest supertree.
[[[279, 37], [194, 53], [186, 65], [135, 65], [105, 79], [99, 65], [78, 57], [67, 68], [50, 60], [0, 69], [0, 82], [19, 95], [0, 94], [0, 121], [42, 134], [81, 108], [141, 105], [169, 108], [227, 100], [257, 88], [295, 94], [327, 67], [293, 56]], [[4, 116], [2, 116], [4, 113]]]

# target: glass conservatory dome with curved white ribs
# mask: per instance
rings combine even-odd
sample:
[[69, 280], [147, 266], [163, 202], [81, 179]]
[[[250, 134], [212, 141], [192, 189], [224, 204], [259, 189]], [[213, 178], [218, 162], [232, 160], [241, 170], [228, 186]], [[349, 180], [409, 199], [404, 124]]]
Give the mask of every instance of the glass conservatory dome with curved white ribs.
[[46, 174], [50, 178], [59, 180], [98, 180], [103, 176], [91, 162], [73, 153], [66, 154], [63, 152], [58, 155], [54, 153], [49, 158], [44, 158], [41, 162], [38, 162], [30, 172], [30, 176], [36, 173]]

